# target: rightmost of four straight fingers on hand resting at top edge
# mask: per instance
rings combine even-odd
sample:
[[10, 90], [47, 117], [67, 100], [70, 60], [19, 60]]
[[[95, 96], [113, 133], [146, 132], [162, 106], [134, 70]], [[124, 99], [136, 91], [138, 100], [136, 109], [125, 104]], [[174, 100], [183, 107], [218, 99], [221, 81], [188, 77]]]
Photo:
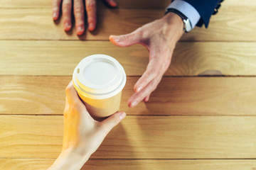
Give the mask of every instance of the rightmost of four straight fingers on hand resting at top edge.
[[92, 31], [96, 28], [96, 1], [85, 0], [88, 30]]

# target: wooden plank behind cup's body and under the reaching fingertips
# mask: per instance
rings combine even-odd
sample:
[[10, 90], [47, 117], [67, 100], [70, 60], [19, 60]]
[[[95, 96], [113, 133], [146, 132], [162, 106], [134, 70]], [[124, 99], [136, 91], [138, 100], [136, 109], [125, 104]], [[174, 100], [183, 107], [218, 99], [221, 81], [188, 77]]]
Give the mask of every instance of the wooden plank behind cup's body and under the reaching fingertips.
[[[0, 113], [61, 115], [72, 77], [0, 77]], [[148, 103], [128, 108], [138, 77], [127, 77], [129, 115], [255, 115], [255, 77], [164, 77]]]

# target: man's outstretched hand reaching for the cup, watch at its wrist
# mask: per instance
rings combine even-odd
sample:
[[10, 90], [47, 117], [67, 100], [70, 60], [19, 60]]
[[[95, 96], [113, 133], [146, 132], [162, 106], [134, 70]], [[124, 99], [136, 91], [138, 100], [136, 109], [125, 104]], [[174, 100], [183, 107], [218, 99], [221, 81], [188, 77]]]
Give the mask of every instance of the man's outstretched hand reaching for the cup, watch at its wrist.
[[149, 50], [149, 64], [142, 77], [134, 85], [134, 95], [129, 98], [129, 107], [140, 101], [149, 101], [149, 96], [161, 81], [169, 68], [176, 42], [183, 34], [183, 21], [175, 13], [168, 13], [163, 18], [147, 23], [127, 35], [111, 35], [110, 41], [119, 47], [142, 44]]

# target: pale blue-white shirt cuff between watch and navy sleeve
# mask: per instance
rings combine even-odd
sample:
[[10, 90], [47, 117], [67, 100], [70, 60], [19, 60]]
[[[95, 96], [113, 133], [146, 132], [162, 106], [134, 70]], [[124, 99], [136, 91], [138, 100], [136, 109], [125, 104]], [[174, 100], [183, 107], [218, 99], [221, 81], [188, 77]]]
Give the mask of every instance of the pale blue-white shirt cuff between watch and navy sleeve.
[[196, 23], [198, 23], [199, 19], [201, 18], [196, 8], [191, 6], [191, 4], [188, 4], [186, 1], [175, 0], [167, 8], [175, 8], [183, 13], [186, 17], [188, 17], [192, 28], [196, 26]]

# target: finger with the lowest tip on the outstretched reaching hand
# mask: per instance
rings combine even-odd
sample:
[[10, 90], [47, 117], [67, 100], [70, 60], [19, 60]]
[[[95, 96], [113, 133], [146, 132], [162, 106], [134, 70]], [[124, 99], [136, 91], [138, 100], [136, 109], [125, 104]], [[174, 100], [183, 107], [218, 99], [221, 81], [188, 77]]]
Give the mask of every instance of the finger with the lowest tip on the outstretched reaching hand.
[[149, 96], [151, 92], [156, 89], [156, 86], [159, 84], [160, 81], [161, 77], [156, 77], [156, 79], [152, 80], [144, 89], [142, 89], [142, 91], [132, 95], [132, 97], [129, 98], [128, 106], [130, 108], [137, 106], [139, 102], [146, 98], [146, 96]]

